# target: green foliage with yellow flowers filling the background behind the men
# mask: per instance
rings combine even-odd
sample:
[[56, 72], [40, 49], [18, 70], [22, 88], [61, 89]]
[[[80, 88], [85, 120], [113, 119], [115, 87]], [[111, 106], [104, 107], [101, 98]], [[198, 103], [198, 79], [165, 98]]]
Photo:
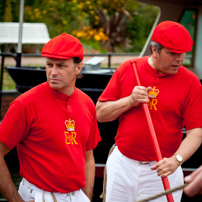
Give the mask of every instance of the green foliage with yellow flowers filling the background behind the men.
[[[0, 21], [18, 22], [19, 7], [20, 0], [0, 0]], [[101, 52], [137, 52], [157, 13], [133, 0], [36, 0], [25, 1], [24, 22], [43, 22], [51, 38], [66, 32]]]

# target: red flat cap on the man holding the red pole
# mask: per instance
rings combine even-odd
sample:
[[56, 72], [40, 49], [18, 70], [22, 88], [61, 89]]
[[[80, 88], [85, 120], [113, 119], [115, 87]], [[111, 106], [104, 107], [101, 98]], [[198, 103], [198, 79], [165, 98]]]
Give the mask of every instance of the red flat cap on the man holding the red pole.
[[186, 53], [192, 49], [193, 41], [188, 30], [173, 21], [164, 21], [154, 29], [152, 40], [174, 53]]

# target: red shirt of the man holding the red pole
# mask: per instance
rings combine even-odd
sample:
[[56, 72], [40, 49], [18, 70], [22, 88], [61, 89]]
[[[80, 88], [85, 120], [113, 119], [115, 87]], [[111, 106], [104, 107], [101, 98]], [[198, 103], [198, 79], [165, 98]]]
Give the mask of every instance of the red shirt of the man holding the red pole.
[[[163, 157], [170, 157], [182, 141], [182, 128], [202, 127], [202, 88], [199, 79], [181, 66], [175, 75], [159, 74], [147, 62], [137, 59], [142, 86], [151, 86], [149, 109]], [[137, 85], [130, 61], [113, 74], [99, 101], [127, 97]], [[156, 160], [143, 106], [132, 107], [119, 118], [115, 137], [119, 150], [139, 161]]]

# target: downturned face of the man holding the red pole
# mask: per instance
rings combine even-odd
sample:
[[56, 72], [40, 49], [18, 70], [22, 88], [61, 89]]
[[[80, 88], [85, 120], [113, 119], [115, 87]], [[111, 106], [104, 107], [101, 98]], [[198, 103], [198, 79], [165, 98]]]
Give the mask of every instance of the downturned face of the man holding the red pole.
[[160, 53], [154, 50], [153, 56], [156, 58], [154, 69], [159, 73], [176, 74], [184, 61], [185, 53], [174, 53], [164, 47]]

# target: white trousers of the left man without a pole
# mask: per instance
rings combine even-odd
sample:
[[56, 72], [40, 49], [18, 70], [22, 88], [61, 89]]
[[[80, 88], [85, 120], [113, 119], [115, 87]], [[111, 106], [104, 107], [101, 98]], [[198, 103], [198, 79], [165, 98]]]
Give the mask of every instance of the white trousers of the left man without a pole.
[[39, 189], [35, 185], [28, 182], [25, 178], [22, 179], [19, 190], [20, 196], [24, 201], [35, 202], [89, 202], [89, 198], [83, 193], [82, 190], [60, 193], [60, 192], [47, 192]]

